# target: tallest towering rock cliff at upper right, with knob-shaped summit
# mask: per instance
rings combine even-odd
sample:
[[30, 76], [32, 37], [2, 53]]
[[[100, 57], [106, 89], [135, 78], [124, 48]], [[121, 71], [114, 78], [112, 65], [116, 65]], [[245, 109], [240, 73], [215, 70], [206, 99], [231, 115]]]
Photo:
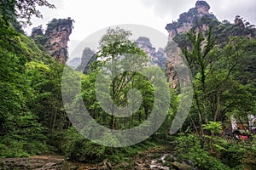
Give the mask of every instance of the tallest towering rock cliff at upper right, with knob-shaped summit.
[[183, 65], [181, 58], [177, 56], [181, 56], [181, 48], [189, 48], [191, 45], [186, 36], [188, 31], [201, 32], [202, 36], [206, 36], [205, 32], [211, 27], [212, 37], [218, 37], [216, 44], [220, 47], [224, 47], [230, 41], [230, 37], [247, 37], [248, 39], [256, 37], [256, 27], [240, 15], [234, 14], [236, 15], [234, 23], [228, 20], [220, 22], [214, 14], [209, 12], [209, 9], [210, 5], [206, 1], [199, 0], [195, 3], [195, 8], [190, 8], [188, 12], [180, 14], [177, 21], [166, 25], [170, 40], [166, 47], [168, 56], [166, 70], [172, 88], [178, 86], [175, 66]]

